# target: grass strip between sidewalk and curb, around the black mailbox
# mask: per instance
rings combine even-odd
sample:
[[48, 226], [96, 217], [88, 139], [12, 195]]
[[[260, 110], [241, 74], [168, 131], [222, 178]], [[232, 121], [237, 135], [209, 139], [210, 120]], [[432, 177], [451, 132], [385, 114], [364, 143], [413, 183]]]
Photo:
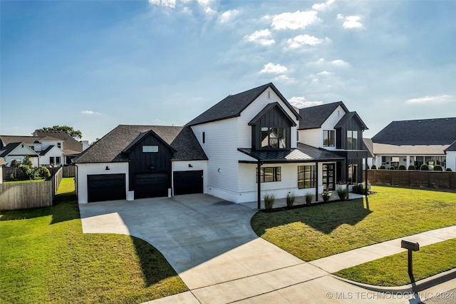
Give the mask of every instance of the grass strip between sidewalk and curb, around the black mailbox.
[[400, 286], [456, 268], [456, 238], [427, 245], [413, 253], [413, 277], [408, 275], [408, 253], [398, 253], [334, 273], [356, 282]]

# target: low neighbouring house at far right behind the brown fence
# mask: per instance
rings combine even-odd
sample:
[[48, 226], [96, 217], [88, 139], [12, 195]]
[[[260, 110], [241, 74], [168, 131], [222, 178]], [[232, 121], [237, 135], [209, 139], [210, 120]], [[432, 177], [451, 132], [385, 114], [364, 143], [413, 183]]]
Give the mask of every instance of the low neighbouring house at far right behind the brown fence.
[[372, 138], [375, 165], [419, 169], [425, 163], [455, 171], [455, 141], [456, 117], [393, 121]]

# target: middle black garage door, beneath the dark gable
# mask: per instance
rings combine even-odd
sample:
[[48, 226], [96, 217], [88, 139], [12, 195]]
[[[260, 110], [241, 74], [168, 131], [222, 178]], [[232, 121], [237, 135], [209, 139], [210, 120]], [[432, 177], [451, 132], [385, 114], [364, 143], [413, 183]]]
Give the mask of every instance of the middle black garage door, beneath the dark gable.
[[135, 199], [168, 196], [167, 173], [135, 175]]

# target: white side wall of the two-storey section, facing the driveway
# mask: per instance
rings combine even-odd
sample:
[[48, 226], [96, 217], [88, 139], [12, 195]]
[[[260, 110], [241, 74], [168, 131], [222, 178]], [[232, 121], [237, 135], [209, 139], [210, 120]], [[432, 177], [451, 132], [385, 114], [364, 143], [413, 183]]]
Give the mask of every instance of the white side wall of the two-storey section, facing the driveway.
[[[238, 191], [237, 118], [192, 126], [207, 158], [207, 193], [236, 201]], [[202, 143], [202, 133], [205, 141]]]

